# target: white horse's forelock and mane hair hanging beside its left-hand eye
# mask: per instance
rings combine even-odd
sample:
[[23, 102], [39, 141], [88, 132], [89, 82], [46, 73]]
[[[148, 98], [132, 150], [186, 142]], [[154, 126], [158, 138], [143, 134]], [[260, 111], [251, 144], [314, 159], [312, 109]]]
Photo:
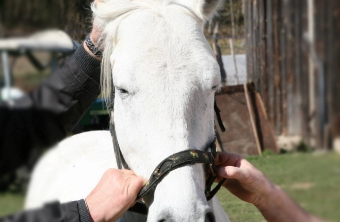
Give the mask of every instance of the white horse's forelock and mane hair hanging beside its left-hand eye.
[[[194, 9], [181, 4], [182, 0], [100, 0], [97, 5], [92, 4], [92, 11], [97, 20], [99, 29], [102, 30], [100, 37], [100, 48], [103, 49], [102, 57], [102, 74], [101, 89], [102, 96], [105, 98], [106, 105], [111, 101], [112, 87], [112, 65], [110, 56], [112, 55], [116, 44], [118, 28], [120, 23], [132, 13], [138, 11], [149, 11], [158, 15], [162, 14], [168, 5], [176, 4], [184, 8], [198, 22], [204, 23], [204, 18], [197, 15]], [[109, 107], [109, 106], [107, 106]]]

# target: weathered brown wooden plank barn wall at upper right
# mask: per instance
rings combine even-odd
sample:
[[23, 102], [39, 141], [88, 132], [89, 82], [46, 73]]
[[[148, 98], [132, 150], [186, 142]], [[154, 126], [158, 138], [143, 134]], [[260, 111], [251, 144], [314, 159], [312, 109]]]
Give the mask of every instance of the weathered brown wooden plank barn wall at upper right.
[[276, 135], [331, 146], [340, 137], [340, 1], [245, 0], [245, 33], [248, 81]]

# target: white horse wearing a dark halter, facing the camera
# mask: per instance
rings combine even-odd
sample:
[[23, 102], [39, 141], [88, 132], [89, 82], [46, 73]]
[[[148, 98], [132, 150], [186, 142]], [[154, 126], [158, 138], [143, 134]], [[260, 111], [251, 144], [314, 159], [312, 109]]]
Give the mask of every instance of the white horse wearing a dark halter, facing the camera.
[[[109, 94], [112, 76], [118, 143], [138, 176], [148, 179], [166, 157], [203, 150], [215, 137], [214, 94], [221, 78], [203, 28], [219, 4], [101, 0], [92, 8], [103, 31], [102, 90]], [[68, 138], [37, 164], [25, 207], [85, 198], [111, 167], [117, 165], [109, 132]], [[171, 171], [145, 198], [147, 218], [128, 212], [120, 221], [229, 221], [216, 197], [206, 201], [205, 177], [202, 164]]]

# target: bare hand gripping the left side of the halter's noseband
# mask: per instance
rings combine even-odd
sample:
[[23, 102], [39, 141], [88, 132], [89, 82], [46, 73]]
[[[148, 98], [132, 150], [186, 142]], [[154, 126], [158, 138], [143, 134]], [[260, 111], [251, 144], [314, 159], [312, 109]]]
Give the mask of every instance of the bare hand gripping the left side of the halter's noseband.
[[137, 194], [146, 182], [130, 170], [107, 170], [85, 199], [92, 221], [117, 221], [135, 204]]

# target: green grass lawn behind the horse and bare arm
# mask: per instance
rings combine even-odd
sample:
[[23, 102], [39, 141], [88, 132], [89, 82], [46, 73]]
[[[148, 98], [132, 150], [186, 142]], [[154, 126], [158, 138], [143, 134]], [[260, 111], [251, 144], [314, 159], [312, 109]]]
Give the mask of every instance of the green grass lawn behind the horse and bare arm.
[[[340, 155], [290, 153], [248, 157], [275, 184], [280, 185], [307, 211], [330, 221], [340, 219]], [[263, 222], [251, 204], [221, 189], [218, 198], [234, 222]], [[0, 216], [22, 208], [22, 194], [0, 194]]]

